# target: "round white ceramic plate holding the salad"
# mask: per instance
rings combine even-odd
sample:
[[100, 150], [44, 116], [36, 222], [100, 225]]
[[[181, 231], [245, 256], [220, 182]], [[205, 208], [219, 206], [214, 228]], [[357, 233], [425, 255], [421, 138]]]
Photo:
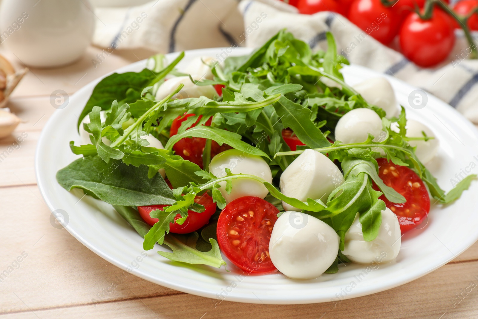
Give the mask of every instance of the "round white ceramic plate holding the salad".
[[[199, 55], [216, 56], [221, 49], [186, 52], [181, 64]], [[231, 55], [245, 55], [250, 50], [236, 48]], [[168, 55], [172, 61], [176, 54]], [[118, 70], [140, 71], [144, 61]], [[343, 69], [346, 81], [353, 84], [378, 73], [360, 66]], [[478, 131], [456, 110], [428, 95], [428, 104], [421, 110], [408, 104], [415, 89], [388, 77], [398, 101], [407, 108], [408, 117], [424, 122], [440, 140], [438, 156], [430, 163], [432, 173], [442, 188], [452, 187], [451, 178], [478, 164]], [[400, 286], [446, 264], [465, 251], [478, 238], [478, 183], [448, 207], [432, 206], [427, 225], [409, 231], [402, 238], [402, 248], [396, 262], [367, 268], [361, 265], [341, 265], [339, 272], [322, 275], [314, 280], [297, 281], [280, 273], [273, 275], [240, 275], [208, 266], [174, 264], [156, 253], [163, 249], [143, 252], [142, 238], [112, 209], [98, 200], [82, 198], [81, 191], [67, 192], [57, 184], [56, 172], [75, 160], [69, 141], [79, 142], [76, 132], [78, 115], [100, 79], [76, 92], [65, 109], [57, 110], [40, 137], [35, 159], [38, 186], [52, 211], [66, 212], [65, 228], [76, 239], [110, 263], [141, 278], [199, 296], [220, 300], [267, 304], [303, 304], [340, 301], [364, 296]], [[467, 172], [469, 173], [469, 172]], [[80, 200], [80, 198], [82, 198]], [[146, 256], [147, 257], [144, 257]]]

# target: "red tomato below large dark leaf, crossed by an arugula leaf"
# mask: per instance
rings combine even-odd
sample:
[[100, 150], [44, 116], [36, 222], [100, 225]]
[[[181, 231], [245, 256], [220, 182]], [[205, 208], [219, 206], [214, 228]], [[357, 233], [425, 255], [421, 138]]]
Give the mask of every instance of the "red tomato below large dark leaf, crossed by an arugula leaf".
[[[189, 232], [197, 231], [199, 228], [206, 225], [211, 216], [216, 212], [216, 203], [212, 201], [212, 197], [209, 195], [204, 194], [202, 196], [196, 196], [194, 201], [203, 205], [205, 210], [202, 213], [196, 213], [195, 211], [188, 210], [187, 218], [182, 225], [179, 225], [176, 222], [169, 223], [170, 232], [175, 234], [187, 234]], [[158, 221], [158, 219], [152, 218], [150, 213], [156, 209], [163, 210], [165, 206], [168, 205], [139, 206], [138, 212], [140, 213], [141, 218], [152, 226]], [[181, 215], [177, 214], [176, 217], [174, 217], [174, 221], [179, 218], [181, 218]]]

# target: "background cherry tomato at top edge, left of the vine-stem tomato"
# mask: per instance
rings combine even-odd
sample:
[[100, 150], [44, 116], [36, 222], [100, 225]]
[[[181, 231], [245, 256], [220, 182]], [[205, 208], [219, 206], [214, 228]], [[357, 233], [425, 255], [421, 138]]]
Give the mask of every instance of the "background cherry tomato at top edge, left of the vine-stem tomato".
[[400, 25], [399, 15], [380, 0], [354, 0], [348, 20], [383, 44], [393, 40]]

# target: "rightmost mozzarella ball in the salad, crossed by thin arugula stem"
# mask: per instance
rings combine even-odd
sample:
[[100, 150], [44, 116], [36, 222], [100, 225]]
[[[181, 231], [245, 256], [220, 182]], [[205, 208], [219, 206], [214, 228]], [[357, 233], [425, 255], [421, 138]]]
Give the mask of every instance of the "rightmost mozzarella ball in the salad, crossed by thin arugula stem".
[[432, 130], [430, 130], [426, 125], [420, 123], [419, 121], [407, 120], [407, 137], [424, 137], [422, 132], [425, 132], [426, 136], [434, 137], [428, 141], [409, 141], [408, 143], [415, 147], [415, 155], [422, 163], [429, 162], [435, 155], [438, 153], [440, 148], [440, 142], [436, 138]]

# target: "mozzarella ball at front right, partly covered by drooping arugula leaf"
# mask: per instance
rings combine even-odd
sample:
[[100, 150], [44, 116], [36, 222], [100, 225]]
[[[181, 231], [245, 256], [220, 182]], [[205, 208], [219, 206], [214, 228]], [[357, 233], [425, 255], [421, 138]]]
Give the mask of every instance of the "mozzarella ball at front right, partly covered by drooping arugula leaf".
[[356, 264], [388, 263], [397, 257], [402, 243], [401, 238], [397, 215], [386, 208], [382, 210], [382, 223], [377, 238], [366, 242], [357, 213], [352, 226], [345, 233], [345, 249], [342, 253]]

